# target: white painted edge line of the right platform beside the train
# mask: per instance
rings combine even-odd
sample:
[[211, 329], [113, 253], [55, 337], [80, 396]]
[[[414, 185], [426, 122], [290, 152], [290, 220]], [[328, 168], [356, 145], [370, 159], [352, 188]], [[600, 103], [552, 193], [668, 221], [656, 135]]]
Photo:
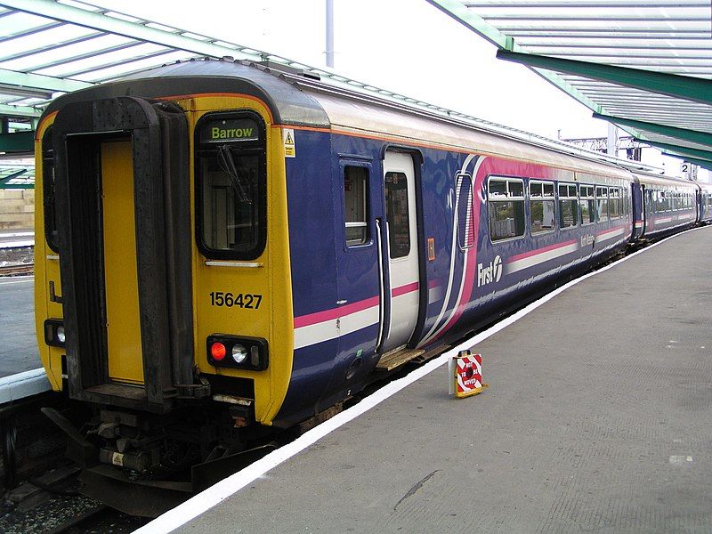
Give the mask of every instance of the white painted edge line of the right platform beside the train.
[[[700, 230], [701, 228], [702, 227], [694, 228], [691, 231]], [[287, 445], [275, 450], [274, 452], [271, 452], [266, 457], [263, 457], [252, 465], [249, 465], [239, 473], [235, 473], [224, 479], [223, 481], [219, 481], [218, 483], [214, 484], [214, 486], [211, 486], [207, 490], [198, 493], [198, 495], [196, 495], [195, 497], [188, 499], [187, 501], [182, 503], [182, 505], [176, 506], [173, 510], [169, 510], [168, 512], [166, 512], [166, 514], [159, 515], [153, 521], [142, 526], [142, 528], [134, 530], [134, 533], [162, 534], [171, 532], [172, 530], [181, 527], [190, 520], [198, 517], [198, 515], [203, 514], [213, 506], [220, 504], [226, 498], [231, 497], [231, 495], [241, 490], [248, 484], [254, 482], [256, 479], [263, 476], [264, 473], [267, 473], [272, 468], [285, 462], [290, 457], [295, 456], [297, 453], [303, 451], [303, 449], [306, 449], [307, 447], [309, 447], [316, 441], [319, 441], [321, 438], [328, 435], [329, 433], [332, 433], [340, 426], [343, 426], [349, 421], [352, 421], [352, 419], [355, 419], [361, 414], [366, 413], [369, 409], [372, 409], [373, 407], [385, 401], [389, 397], [392, 397], [392, 395], [397, 392], [400, 392], [402, 389], [408, 387], [410, 384], [413, 384], [423, 376], [432, 373], [436, 368], [439, 368], [441, 367], [441, 365], [445, 364], [450, 358], [456, 356], [457, 352], [468, 349], [474, 344], [479, 344], [488, 337], [494, 336], [500, 330], [503, 330], [504, 328], [513, 324], [517, 320], [522, 319], [522, 317], [528, 315], [530, 312], [533, 312], [542, 304], [547, 303], [556, 295], [559, 295], [563, 291], [566, 291], [569, 287], [575, 286], [576, 284], [584, 281], [585, 279], [595, 276], [601, 272], [608, 271], [615, 265], [627, 262], [627, 260], [635, 257], [636, 255], [643, 254], [643, 252], [646, 252], [651, 248], [657, 247], [668, 239], [674, 239], [678, 236], [683, 235], [684, 233], [686, 233], [686, 231], [675, 234], [674, 236], [670, 236], [666, 239], [661, 239], [660, 241], [653, 243], [649, 247], [642, 248], [641, 250], [638, 250], [637, 252], [631, 255], [627, 255], [626, 257], [620, 259], [615, 263], [606, 265], [598, 271], [589, 272], [581, 278], [571, 280], [568, 284], [565, 284], [564, 286], [555, 289], [548, 295], [545, 295], [542, 298], [538, 299], [538, 301], [530, 303], [528, 306], [522, 308], [522, 310], [520, 310], [519, 312], [516, 312], [513, 315], [507, 317], [505, 320], [499, 322], [493, 327], [488, 328], [480, 334], [471, 337], [464, 343], [459, 344], [456, 347], [450, 349], [448, 352], [441, 354], [441, 356], [429, 361], [423, 367], [417, 368], [408, 376], [404, 376], [399, 380], [395, 380], [392, 383], [385, 385], [383, 388], [381, 388], [374, 394], [368, 396], [363, 401], [360, 401], [357, 405], [352, 406], [352, 408], [350, 409], [344, 410], [335, 417], [328, 419], [328, 421], [322, 423], [321, 425], [318, 425], [312, 428], [312, 430], [303, 433], [302, 436], [297, 438], [295, 441], [292, 441], [291, 443], [288, 443]], [[443, 384], [443, 392], [444, 391], [445, 384]]]

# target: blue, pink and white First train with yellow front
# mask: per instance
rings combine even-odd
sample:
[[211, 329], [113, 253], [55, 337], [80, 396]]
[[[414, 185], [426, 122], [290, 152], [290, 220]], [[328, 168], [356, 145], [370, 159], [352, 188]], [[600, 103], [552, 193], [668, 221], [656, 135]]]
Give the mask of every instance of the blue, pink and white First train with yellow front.
[[231, 59], [54, 100], [36, 195], [39, 351], [72, 407], [45, 414], [87, 494], [144, 515], [712, 219], [705, 184]]

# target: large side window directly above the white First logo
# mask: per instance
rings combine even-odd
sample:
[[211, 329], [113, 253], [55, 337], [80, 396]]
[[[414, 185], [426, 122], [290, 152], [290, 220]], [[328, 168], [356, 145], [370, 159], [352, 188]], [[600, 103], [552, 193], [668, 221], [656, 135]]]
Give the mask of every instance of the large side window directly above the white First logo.
[[488, 211], [490, 238], [518, 238], [524, 235], [524, 182], [506, 178], [490, 178]]

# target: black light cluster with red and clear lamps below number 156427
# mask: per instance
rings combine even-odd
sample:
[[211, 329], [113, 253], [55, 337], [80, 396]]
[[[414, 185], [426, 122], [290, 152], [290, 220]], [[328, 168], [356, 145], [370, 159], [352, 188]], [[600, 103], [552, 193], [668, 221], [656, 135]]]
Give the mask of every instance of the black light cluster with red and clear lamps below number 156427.
[[215, 367], [262, 371], [269, 365], [267, 341], [261, 337], [213, 334], [207, 336], [206, 348], [207, 361]]

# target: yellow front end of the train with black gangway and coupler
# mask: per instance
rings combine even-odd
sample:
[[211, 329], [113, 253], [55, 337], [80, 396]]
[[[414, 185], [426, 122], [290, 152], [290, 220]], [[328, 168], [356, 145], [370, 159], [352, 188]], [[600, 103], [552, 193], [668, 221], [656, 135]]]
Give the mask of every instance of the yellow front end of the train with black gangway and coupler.
[[106, 476], [171, 478], [259, 442], [290, 381], [282, 117], [258, 84], [197, 66], [65, 95], [37, 128], [40, 354], [91, 419], [45, 413], [103, 498]]

